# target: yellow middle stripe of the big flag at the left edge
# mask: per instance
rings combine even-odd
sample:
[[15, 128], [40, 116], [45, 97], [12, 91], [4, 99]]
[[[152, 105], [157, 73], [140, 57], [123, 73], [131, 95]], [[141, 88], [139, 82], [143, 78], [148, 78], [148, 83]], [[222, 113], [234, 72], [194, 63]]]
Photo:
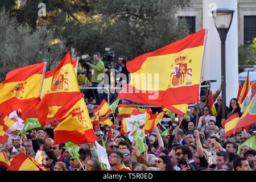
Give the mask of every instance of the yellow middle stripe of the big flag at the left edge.
[[[0, 104], [13, 97], [17, 97], [20, 100], [27, 98], [37, 98], [40, 96], [41, 86], [43, 81], [43, 75], [34, 74], [24, 81], [9, 82], [6, 84], [1, 84], [1, 97]], [[18, 89], [16, 92], [15, 86], [18, 84], [23, 84], [23, 88]]]

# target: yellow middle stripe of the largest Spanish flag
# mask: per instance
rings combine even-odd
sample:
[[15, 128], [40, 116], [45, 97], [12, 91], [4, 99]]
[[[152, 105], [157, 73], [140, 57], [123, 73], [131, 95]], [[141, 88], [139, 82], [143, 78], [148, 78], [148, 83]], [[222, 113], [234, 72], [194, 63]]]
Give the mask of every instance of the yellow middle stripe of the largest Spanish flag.
[[[199, 46], [168, 55], [147, 57], [147, 60], [144, 61], [141, 68], [131, 74], [130, 85], [139, 90], [167, 90], [168, 88], [176, 88], [177, 86], [171, 83], [170, 75], [172, 72], [175, 73], [175, 59], [180, 56], [180, 53], [182, 56], [187, 56], [187, 59], [183, 62], [187, 64], [187, 69], [189, 67], [192, 69], [192, 77], [190, 78], [186, 72], [185, 76], [183, 75], [184, 83], [180, 86], [199, 84], [203, 50], [204, 46]], [[189, 63], [189, 60], [191, 60], [191, 63]], [[152, 77], [147, 74], [151, 74]], [[154, 74], [158, 75], [159, 78], [155, 78], [154, 80]]]

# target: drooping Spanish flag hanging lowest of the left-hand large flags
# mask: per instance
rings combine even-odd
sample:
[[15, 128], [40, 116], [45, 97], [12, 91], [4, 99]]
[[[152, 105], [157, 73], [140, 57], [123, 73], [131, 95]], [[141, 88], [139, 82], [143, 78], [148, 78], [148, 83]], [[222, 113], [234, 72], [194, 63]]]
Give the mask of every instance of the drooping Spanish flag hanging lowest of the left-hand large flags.
[[61, 113], [65, 113], [65, 110], [68, 115], [67, 117], [64, 115], [65, 119], [55, 127], [54, 143], [59, 144], [67, 141], [76, 144], [94, 143], [96, 138], [84, 98], [80, 98], [75, 104], [69, 106], [59, 110]]

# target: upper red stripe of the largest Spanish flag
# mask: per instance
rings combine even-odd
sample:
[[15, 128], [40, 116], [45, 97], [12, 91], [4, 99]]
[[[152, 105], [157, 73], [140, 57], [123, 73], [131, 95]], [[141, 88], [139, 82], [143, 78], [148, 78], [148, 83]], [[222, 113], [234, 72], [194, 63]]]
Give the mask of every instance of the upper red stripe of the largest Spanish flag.
[[177, 53], [187, 48], [199, 47], [204, 45], [205, 29], [191, 34], [182, 40], [171, 43], [156, 51], [144, 53], [141, 56], [127, 62], [127, 70], [130, 73], [134, 73], [141, 68], [141, 65], [146, 61], [147, 57], [168, 55], [171, 53]]

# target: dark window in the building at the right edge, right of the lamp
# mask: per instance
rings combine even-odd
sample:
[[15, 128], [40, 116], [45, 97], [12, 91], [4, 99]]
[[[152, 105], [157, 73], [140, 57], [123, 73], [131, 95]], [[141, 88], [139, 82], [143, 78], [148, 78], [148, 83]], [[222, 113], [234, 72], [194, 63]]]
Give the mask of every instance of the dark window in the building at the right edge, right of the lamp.
[[253, 43], [253, 39], [256, 38], [256, 16], [243, 16], [243, 42], [245, 45]]

